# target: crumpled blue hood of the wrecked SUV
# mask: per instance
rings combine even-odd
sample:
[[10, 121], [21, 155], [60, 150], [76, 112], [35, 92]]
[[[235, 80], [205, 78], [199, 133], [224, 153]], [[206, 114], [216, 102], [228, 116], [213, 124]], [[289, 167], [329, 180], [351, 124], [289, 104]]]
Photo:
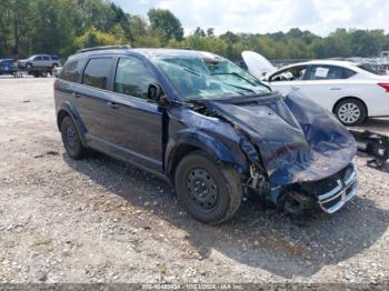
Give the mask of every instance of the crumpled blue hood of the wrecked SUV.
[[356, 155], [356, 141], [346, 128], [296, 93], [207, 103], [256, 143], [272, 187], [325, 179]]

